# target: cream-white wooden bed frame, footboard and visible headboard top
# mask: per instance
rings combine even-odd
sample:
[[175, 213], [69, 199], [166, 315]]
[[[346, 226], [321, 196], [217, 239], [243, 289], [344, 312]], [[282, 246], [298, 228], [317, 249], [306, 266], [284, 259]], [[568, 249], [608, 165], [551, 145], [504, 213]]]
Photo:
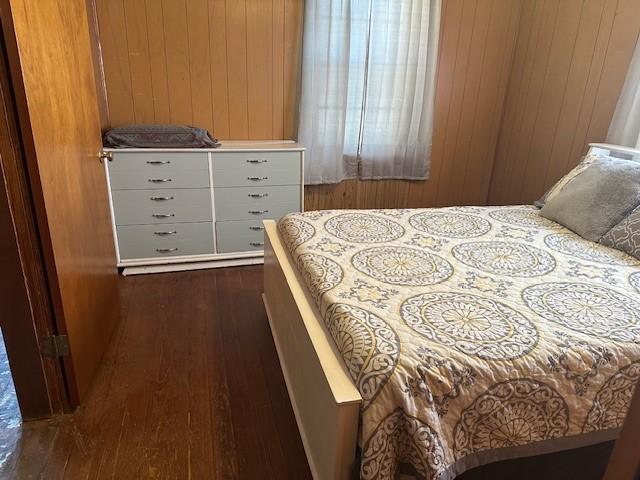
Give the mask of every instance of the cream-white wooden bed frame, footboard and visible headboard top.
[[[603, 143], [590, 152], [640, 161], [640, 150]], [[309, 297], [276, 223], [265, 224], [264, 304], [300, 436], [316, 480], [356, 478], [362, 397]]]

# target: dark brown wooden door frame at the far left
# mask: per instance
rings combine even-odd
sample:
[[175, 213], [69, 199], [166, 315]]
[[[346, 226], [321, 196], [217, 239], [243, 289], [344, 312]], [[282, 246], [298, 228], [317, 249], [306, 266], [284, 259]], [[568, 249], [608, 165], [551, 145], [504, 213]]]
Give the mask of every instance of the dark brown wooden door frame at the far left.
[[25, 155], [28, 135], [19, 124], [19, 89], [11, 75], [17, 50], [7, 5], [0, 4], [0, 241], [10, 288], [0, 291], [0, 303], [8, 313], [2, 327], [20, 410], [24, 419], [36, 419], [68, 411], [70, 404], [60, 360], [40, 352], [42, 339], [57, 331]]

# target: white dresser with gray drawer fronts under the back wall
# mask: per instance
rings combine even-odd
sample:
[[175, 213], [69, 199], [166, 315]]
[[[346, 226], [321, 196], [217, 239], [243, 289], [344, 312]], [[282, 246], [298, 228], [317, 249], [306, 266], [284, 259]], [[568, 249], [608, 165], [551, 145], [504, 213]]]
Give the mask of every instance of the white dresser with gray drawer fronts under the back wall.
[[262, 221], [303, 210], [304, 148], [293, 142], [106, 151], [124, 274], [261, 263]]

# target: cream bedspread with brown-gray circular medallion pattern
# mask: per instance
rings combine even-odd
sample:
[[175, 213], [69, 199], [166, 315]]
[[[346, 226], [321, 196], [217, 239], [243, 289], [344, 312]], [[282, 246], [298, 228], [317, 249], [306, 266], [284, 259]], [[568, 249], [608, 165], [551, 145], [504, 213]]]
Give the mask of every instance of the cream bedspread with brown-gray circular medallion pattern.
[[450, 479], [613, 438], [640, 262], [533, 207], [291, 214], [279, 233], [362, 398], [363, 479]]

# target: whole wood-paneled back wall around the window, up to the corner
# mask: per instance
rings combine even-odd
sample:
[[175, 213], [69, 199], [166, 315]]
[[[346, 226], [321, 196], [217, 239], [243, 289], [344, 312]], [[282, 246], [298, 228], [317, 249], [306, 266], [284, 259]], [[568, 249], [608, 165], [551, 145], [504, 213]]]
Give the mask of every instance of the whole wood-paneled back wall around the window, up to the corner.
[[[220, 138], [295, 138], [302, 0], [97, 5], [114, 126], [182, 122]], [[306, 208], [485, 203], [521, 6], [443, 2], [431, 180], [312, 186]]]

